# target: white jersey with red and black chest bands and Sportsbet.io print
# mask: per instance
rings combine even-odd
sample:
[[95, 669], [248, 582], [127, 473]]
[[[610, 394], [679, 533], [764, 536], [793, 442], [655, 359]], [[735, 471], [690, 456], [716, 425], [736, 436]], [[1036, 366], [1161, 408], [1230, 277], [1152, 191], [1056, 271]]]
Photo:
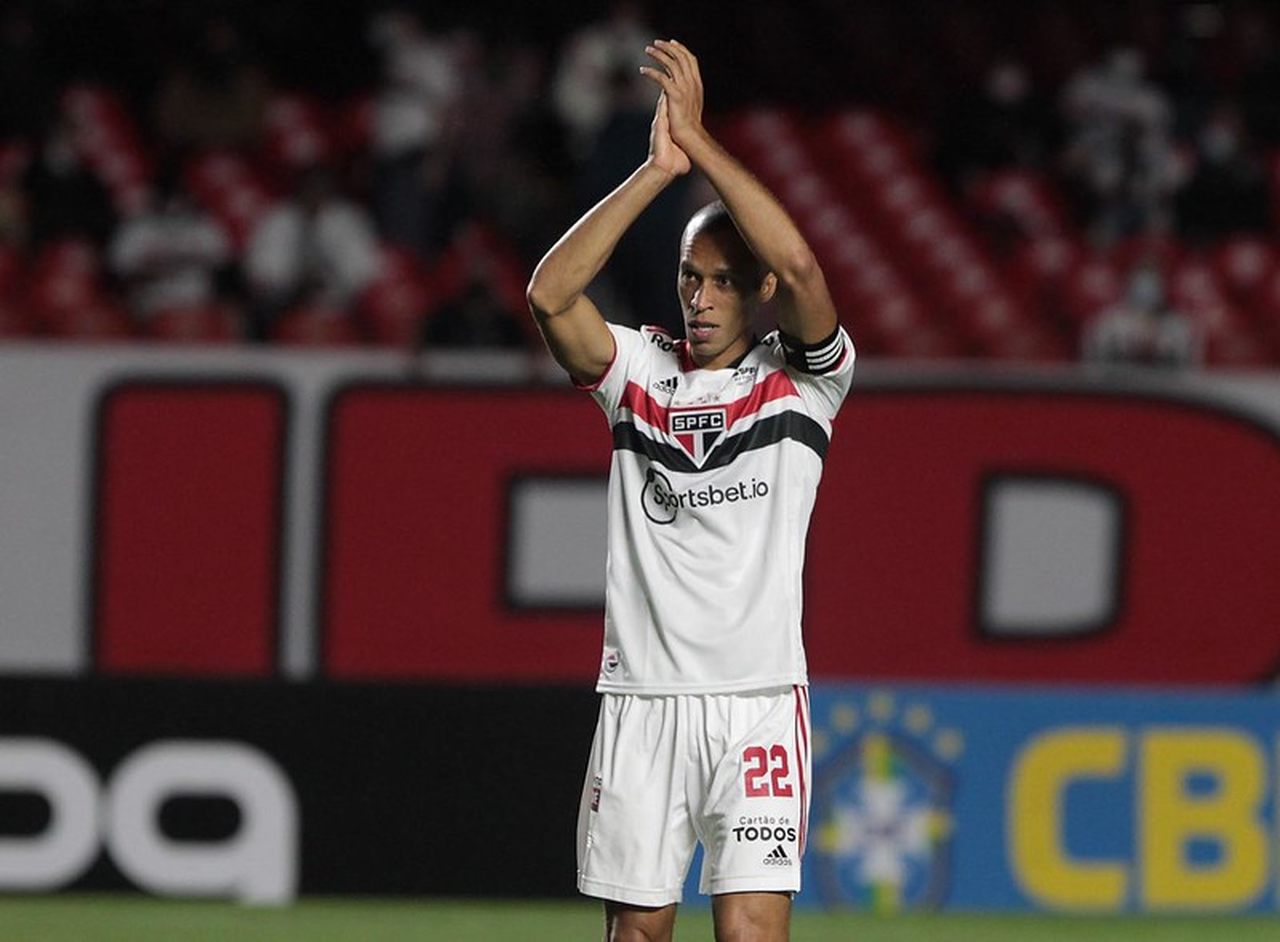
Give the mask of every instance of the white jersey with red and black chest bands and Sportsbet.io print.
[[788, 363], [777, 331], [736, 367], [609, 325], [590, 388], [613, 429], [604, 653], [596, 690], [723, 694], [805, 683], [801, 568], [854, 346], [841, 329]]

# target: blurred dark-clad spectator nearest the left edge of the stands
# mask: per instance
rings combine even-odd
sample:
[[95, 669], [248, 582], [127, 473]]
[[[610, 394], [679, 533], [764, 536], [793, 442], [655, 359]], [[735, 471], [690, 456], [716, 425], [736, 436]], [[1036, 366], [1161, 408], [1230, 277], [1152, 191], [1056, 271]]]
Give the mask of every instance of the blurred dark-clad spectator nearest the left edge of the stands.
[[32, 250], [65, 238], [83, 238], [101, 248], [115, 228], [110, 195], [84, 161], [74, 125], [63, 111], [54, 115], [37, 145], [22, 189]]

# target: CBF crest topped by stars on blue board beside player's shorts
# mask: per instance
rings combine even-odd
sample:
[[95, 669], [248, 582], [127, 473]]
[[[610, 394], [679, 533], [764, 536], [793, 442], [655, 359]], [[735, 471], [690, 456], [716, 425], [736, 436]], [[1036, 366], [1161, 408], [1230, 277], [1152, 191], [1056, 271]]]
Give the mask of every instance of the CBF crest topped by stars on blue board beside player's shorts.
[[964, 750], [927, 703], [814, 703], [813, 882], [827, 906], [937, 909], [951, 881], [952, 772]]

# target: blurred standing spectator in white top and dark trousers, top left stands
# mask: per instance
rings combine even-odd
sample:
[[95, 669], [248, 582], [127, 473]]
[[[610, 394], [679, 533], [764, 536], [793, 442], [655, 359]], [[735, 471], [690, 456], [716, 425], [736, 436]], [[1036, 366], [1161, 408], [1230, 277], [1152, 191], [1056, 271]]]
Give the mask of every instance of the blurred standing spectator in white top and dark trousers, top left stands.
[[431, 259], [452, 228], [460, 60], [406, 6], [375, 17], [369, 41], [383, 69], [372, 120], [374, 216], [384, 238]]

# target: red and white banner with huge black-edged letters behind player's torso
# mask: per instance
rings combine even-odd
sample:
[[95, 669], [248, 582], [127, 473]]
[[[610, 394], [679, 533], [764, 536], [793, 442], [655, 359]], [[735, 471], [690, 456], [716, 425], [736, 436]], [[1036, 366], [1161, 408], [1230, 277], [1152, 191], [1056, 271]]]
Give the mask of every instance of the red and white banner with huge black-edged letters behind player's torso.
[[[495, 363], [0, 348], [0, 671], [589, 682], [609, 434]], [[1277, 523], [1280, 376], [863, 366], [810, 668], [1270, 678]]]

